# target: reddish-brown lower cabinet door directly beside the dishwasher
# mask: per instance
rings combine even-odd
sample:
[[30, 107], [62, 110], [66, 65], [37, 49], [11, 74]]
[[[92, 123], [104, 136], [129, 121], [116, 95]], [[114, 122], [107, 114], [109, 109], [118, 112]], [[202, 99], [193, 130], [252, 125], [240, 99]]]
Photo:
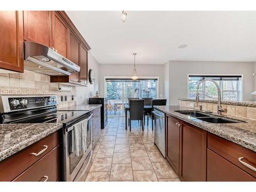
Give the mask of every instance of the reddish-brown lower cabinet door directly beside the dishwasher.
[[179, 175], [179, 155], [180, 155], [180, 127], [176, 125], [177, 119], [167, 116], [167, 150], [166, 159]]

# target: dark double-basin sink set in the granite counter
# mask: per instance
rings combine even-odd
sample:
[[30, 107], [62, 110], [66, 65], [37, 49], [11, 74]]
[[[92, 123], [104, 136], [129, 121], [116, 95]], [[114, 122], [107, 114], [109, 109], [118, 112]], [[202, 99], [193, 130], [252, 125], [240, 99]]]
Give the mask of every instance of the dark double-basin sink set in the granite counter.
[[187, 115], [189, 117], [193, 117], [196, 119], [200, 119], [202, 121], [206, 121], [209, 123], [242, 123], [245, 121], [233, 120], [217, 115], [211, 115], [200, 111], [175, 111], [177, 113]]

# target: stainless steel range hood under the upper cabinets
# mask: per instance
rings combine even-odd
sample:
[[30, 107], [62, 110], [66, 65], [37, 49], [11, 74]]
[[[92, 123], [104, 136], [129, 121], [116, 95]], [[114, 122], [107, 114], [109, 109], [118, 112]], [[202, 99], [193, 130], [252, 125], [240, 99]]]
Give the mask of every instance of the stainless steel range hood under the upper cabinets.
[[24, 41], [24, 68], [36, 73], [60, 76], [78, 73], [80, 67], [53, 49], [32, 41]]

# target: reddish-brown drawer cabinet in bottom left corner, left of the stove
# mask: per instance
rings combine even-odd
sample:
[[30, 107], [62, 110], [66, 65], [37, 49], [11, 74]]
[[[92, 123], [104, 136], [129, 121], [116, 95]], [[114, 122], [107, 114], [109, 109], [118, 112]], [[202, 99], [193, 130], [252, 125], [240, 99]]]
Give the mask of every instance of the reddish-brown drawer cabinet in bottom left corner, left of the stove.
[[[59, 134], [60, 132], [56, 131], [0, 161], [0, 181], [45, 181], [47, 177], [48, 181], [59, 180]], [[43, 152], [38, 156], [32, 154], [38, 154], [40, 151]]]

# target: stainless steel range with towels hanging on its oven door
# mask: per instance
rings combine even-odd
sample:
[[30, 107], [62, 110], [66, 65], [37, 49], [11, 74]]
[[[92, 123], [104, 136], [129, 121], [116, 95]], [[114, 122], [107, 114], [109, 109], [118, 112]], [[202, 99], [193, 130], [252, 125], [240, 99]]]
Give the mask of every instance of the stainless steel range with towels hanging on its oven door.
[[57, 111], [54, 95], [0, 95], [0, 123], [62, 123], [63, 181], [84, 181], [92, 162], [92, 113]]

